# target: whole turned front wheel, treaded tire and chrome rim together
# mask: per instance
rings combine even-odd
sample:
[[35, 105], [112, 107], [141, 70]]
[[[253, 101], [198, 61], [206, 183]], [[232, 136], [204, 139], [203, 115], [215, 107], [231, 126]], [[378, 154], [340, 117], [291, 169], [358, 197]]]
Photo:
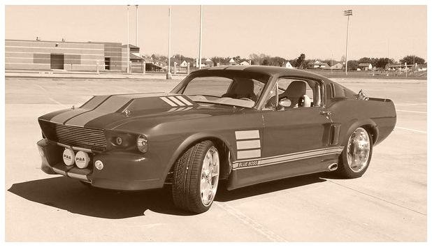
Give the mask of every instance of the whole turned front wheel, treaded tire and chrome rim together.
[[219, 153], [215, 144], [204, 141], [189, 148], [175, 162], [173, 202], [194, 213], [203, 213], [213, 204], [219, 182]]

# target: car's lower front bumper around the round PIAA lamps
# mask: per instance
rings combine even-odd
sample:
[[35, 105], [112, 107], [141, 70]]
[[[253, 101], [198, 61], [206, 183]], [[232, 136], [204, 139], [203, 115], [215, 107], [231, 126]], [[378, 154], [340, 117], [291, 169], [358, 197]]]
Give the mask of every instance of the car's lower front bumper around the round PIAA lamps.
[[[37, 143], [41, 154], [41, 170], [47, 174], [61, 174], [65, 177], [86, 181], [94, 187], [113, 190], [148, 190], [164, 186], [164, 174], [157, 156], [132, 154], [122, 151], [91, 154], [91, 163], [80, 169], [64, 165], [64, 147], [46, 139]], [[103, 169], [94, 168], [94, 162], [101, 160]]]

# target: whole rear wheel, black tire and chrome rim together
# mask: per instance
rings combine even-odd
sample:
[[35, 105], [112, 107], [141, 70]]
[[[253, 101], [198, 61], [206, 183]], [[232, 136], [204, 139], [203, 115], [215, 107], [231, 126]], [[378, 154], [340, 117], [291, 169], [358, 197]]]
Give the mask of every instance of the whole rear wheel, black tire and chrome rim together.
[[341, 177], [347, 179], [361, 177], [369, 167], [372, 149], [372, 138], [368, 131], [362, 127], [356, 128], [348, 138], [339, 158], [338, 172]]

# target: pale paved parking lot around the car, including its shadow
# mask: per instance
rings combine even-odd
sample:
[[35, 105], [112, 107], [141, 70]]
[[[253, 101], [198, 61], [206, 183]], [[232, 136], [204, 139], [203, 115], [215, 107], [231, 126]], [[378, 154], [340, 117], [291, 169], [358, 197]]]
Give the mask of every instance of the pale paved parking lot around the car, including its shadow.
[[426, 80], [336, 80], [397, 109], [359, 179], [312, 174], [219, 190], [208, 212], [189, 215], [164, 190], [92, 190], [39, 170], [38, 116], [178, 81], [6, 78], [6, 241], [426, 241]]

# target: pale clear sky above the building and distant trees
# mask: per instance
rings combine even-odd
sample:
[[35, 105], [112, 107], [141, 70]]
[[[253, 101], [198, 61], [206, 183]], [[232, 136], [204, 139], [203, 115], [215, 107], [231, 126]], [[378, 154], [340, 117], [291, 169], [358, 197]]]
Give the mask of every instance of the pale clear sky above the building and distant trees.
[[[426, 6], [203, 6], [203, 57], [252, 53], [294, 59], [415, 54], [426, 59]], [[199, 6], [171, 6], [171, 54], [198, 57]], [[6, 39], [127, 43], [127, 6], [5, 6]], [[136, 45], [136, 7], [129, 43]], [[138, 6], [143, 54], [168, 54], [168, 6]]]

